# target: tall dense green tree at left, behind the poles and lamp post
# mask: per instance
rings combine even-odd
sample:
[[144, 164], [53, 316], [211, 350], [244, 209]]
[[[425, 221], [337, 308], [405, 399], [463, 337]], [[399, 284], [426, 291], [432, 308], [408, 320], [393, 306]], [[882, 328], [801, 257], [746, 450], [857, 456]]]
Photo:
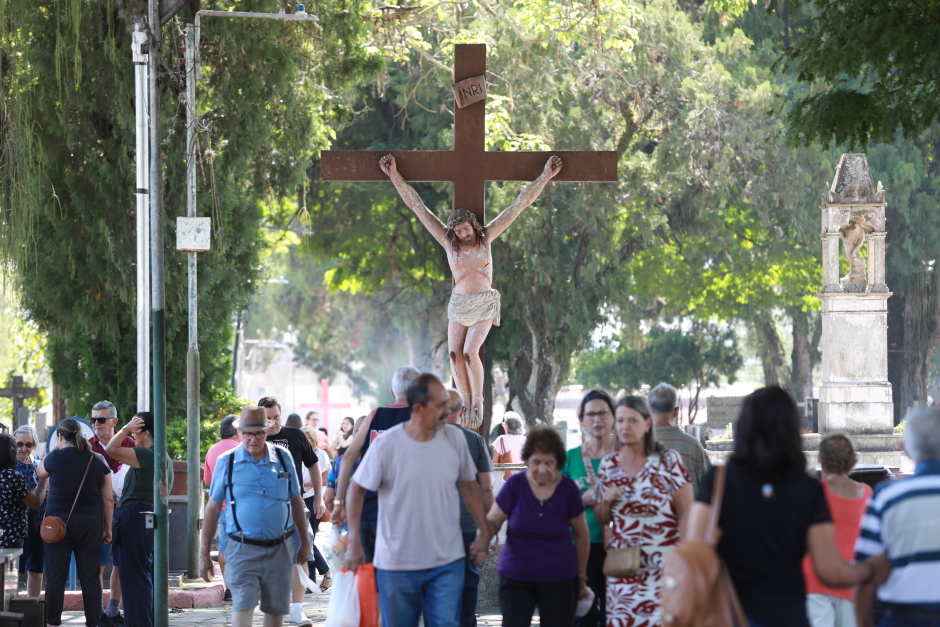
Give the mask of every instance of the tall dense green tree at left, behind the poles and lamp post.
[[[71, 413], [109, 398], [125, 415], [135, 404], [134, 80], [125, 13], [109, 0], [14, 3], [2, 15], [5, 69], [19, 77], [4, 97], [28, 106], [28, 123], [5, 127], [19, 154], [35, 149], [28, 176], [0, 189], [32, 195], [17, 224], [19, 246], [6, 246], [27, 315], [48, 337], [55, 383]], [[6, 5], [5, 5], [6, 6]], [[226, 8], [203, 2], [202, 8]], [[327, 145], [344, 115], [332, 90], [371, 75], [380, 61], [362, 46], [358, 0], [322, 0], [312, 23], [204, 21], [203, 80], [197, 115], [199, 214], [212, 215], [212, 250], [200, 255], [202, 395], [222, 404], [229, 381], [231, 317], [244, 308], [259, 277], [259, 225], [278, 199], [293, 196], [303, 164]], [[242, 0], [239, 10], [270, 11]], [[181, 19], [191, 19], [184, 9]], [[10, 24], [12, 23], [12, 28]], [[167, 415], [185, 416], [186, 269], [173, 246], [183, 195], [187, 77], [177, 66], [180, 22], [164, 29], [161, 74], [166, 232]], [[13, 74], [5, 74], [13, 75]], [[25, 183], [24, 183], [25, 181]], [[19, 187], [17, 187], [19, 185]], [[11, 202], [11, 192], [0, 197]], [[16, 198], [22, 199], [20, 195]], [[16, 199], [14, 199], [16, 200]], [[24, 208], [25, 207], [25, 208]], [[7, 219], [5, 212], [0, 219]], [[25, 216], [25, 217], [24, 217]], [[12, 218], [10, 218], [12, 219]]]

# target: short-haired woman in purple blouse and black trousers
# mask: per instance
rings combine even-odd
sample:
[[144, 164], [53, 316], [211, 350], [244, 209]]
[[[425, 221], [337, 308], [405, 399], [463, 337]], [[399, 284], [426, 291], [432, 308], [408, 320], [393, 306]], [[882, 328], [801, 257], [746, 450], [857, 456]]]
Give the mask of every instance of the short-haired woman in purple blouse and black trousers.
[[522, 461], [526, 471], [506, 480], [487, 515], [494, 535], [509, 521], [498, 568], [503, 627], [528, 627], [536, 607], [542, 627], [571, 627], [588, 596], [581, 491], [560, 472], [565, 446], [553, 427], [529, 431]]

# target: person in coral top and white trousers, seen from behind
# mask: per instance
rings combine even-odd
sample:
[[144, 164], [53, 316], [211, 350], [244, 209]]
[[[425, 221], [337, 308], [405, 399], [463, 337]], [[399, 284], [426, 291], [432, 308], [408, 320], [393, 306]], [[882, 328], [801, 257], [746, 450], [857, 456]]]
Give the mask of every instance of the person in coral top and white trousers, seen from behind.
[[[822, 485], [836, 528], [836, 545], [846, 561], [855, 554], [860, 523], [871, 498], [871, 487], [849, 479], [857, 461], [848, 436], [830, 433], [819, 442]], [[819, 581], [809, 555], [803, 558], [806, 614], [812, 627], [855, 627], [855, 591], [830, 588]]]

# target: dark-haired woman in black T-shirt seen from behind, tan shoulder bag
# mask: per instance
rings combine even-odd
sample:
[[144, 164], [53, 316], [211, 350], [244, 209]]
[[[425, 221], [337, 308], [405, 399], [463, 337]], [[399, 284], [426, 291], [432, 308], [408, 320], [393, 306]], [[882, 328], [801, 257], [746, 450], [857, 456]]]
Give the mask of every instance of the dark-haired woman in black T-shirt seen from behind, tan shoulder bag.
[[[806, 473], [796, 403], [769, 386], [744, 399], [727, 462], [718, 515], [718, 555], [725, 561], [751, 627], [809, 627], [801, 568], [809, 551], [819, 580], [836, 588], [867, 581], [870, 561], [839, 554], [825, 492]], [[704, 540], [715, 469], [705, 475], [689, 520]]]

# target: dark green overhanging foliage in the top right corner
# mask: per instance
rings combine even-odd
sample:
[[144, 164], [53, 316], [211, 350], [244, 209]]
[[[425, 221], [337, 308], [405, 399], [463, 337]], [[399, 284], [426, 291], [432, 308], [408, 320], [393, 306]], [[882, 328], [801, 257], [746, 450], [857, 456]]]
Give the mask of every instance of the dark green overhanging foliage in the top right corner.
[[[796, 3], [794, 3], [796, 4]], [[794, 139], [864, 147], [916, 139], [940, 121], [940, 2], [810, 0], [813, 19], [788, 53], [821, 84], [789, 113]]]

